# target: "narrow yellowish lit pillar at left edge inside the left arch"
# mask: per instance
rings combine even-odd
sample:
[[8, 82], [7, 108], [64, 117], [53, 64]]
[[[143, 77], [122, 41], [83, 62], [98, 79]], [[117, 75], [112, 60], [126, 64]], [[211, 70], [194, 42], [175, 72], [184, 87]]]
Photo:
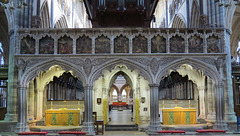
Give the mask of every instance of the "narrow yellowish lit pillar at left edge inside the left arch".
[[34, 83], [33, 80], [28, 87], [28, 120], [34, 120]]

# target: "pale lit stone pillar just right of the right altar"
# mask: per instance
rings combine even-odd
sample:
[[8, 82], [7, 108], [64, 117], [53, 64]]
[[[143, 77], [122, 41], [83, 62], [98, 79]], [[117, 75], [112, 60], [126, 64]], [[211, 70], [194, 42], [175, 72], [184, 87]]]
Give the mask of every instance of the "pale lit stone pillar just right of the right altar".
[[199, 91], [199, 109], [200, 109], [200, 115], [199, 117], [202, 119], [206, 119], [206, 110], [205, 110], [205, 88], [204, 86], [198, 86], [198, 91]]

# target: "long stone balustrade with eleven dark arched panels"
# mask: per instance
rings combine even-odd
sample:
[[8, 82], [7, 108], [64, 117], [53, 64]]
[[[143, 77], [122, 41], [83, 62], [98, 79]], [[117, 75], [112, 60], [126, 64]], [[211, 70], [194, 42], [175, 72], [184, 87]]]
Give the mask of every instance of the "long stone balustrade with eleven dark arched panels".
[[16, 55], [223, 54], [224, 29], [20, 29]]

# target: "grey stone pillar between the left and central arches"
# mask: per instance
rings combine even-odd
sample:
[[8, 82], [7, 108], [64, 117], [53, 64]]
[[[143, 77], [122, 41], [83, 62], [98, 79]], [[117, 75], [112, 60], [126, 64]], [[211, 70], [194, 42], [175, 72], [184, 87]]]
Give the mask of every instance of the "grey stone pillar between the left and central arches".
[[82, 130], [88, 135], [95, 135], [94, 125], [92, 121], [92, 89], [93, 86], [84, 87], [84, 122]]

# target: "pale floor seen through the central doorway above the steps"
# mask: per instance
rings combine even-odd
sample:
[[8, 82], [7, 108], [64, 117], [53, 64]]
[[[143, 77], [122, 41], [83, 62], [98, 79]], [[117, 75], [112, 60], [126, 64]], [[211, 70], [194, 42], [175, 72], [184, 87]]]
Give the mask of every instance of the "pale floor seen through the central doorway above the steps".
[[110, 125], [129, 125], [129, 124], [135, 124], [135, 122], [131, 121], [131, 118], [133, 116], [131, 110], [112, 110], [109, 114], [111, 121], [108, 122]]

